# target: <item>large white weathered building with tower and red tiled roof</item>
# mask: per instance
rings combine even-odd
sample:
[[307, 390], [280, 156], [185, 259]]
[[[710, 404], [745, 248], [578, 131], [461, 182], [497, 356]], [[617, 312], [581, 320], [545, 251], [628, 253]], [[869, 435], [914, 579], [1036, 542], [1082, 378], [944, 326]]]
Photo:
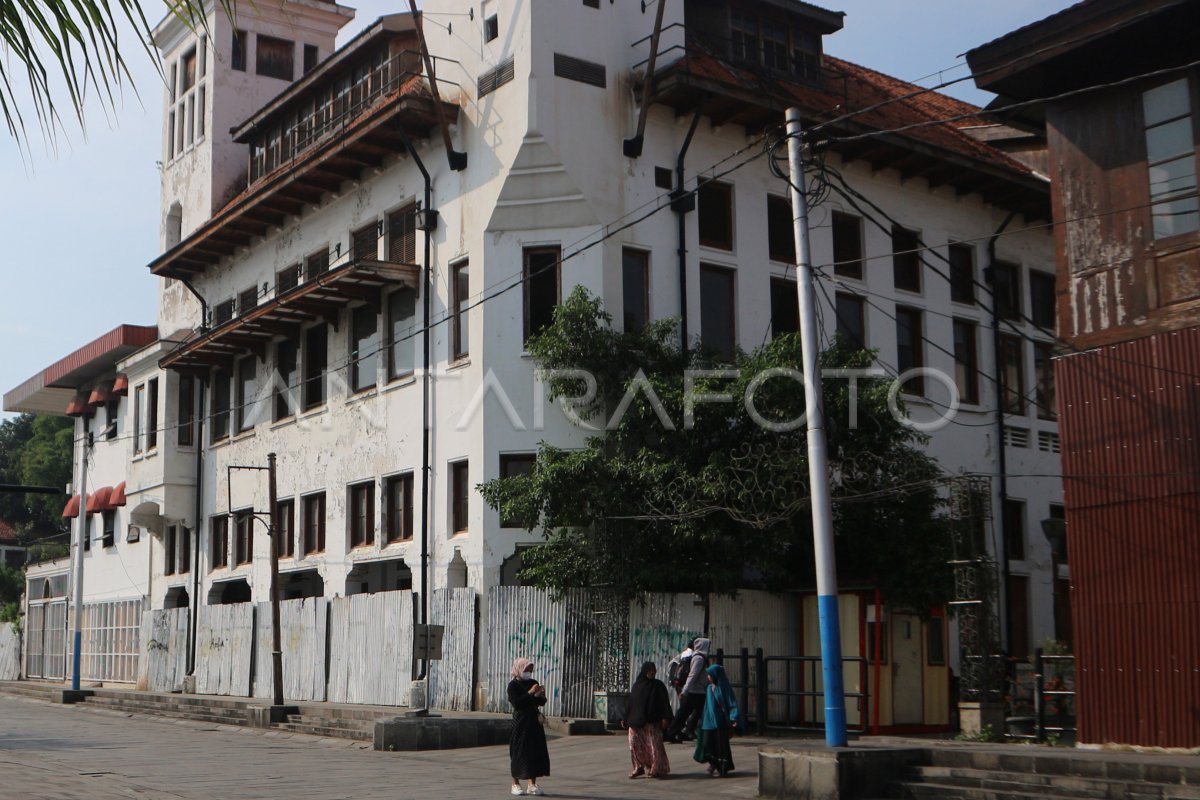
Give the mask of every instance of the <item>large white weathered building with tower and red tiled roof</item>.
[[[1036, 324], [1049, 188], [978, 109], [824, 55], [841, 14], [791, 0], [672, 2], [661, 22], [562, 0], [438, 11], [452, 25], [391, 14], [336, 52], [352, 12], [319, 1], [156, 34], [162, 342], [122, 368], [160, 381], [161, 423], [155, 458], [130, 444], [120, 465], [127, 493], [162, 503], [150, 606], [190, 606], [197, 630], [211, 604], [268, 599], [265, 475], [238, 468], [274, 452], [286, 599], [469, 588], [488, 619], [539, 535], [474, 487], [584, 435], [524, 353], [572, 287], [618, 324], [682, 315], [716, 348], [796, 329], [786, 185], [760, 138], [794, 104], [847, 118], [818, 137], [839, 187], [814, 209], [823, 333], [889, 374], [947, 377], [961, 404], [929, 449], [948, 476], [990, 480], [1006, 646], [1061, 633], [1038, 534], [1061, 503]], [[934, 379], [906, 395], [922, 422], [950, 404]], [[923, 718], [944, 723], [928, 693]]]

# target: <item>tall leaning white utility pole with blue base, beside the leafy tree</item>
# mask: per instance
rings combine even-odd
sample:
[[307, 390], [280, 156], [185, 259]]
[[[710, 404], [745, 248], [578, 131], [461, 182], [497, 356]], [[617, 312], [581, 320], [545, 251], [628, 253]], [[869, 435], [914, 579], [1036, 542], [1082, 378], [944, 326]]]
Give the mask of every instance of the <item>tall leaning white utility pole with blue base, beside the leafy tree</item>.
[[820, 342], [812, 296], [809, 209], [804, 197], [800, 109], [787, 109], [787, 162], [791, 178], [792, 233], [796, 236], [796, 290], [800, 301], [800, 344], [804, 354], [804, 415], [809, 428], [809, 493], [812, 500], [812, 543], [817, 566], [817, 612], [821, 620], [821, 668], [824, 678], [826, 745], [846, 746], [846, 692], [841, 676], [841, 625], [838, 619], [838, 565], [829, 503], [829, 462], [821, 399]]

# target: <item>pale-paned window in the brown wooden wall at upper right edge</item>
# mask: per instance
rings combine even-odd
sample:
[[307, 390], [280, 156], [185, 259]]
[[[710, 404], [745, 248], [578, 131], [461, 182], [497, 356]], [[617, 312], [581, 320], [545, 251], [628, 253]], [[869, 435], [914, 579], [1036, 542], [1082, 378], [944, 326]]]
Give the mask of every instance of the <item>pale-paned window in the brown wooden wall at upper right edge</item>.
[[1200, 229], [1192, 90], [1180, 78], [1141, 96], [1154, 239]]

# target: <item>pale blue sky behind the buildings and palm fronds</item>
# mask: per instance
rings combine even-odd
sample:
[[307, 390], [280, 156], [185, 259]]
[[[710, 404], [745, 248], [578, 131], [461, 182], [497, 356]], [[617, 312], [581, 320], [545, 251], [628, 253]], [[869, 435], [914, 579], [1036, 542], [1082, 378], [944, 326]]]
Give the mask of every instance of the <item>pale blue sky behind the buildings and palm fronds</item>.
[[[407, 8], [403, 0], [341, 1], [358, 16], [338, 44], [380, 14]], [[635, 0], [617, 1], [632, 12]], [[827, 53], [931, 86], [967, 76], [960, 58], [966, 50], [1073, 1], [817, 5], [846, 12], [842, 30], [826, 38]], [[144, 7], [156, 19], [162, 6], [144, 0]], [[131, 37], [125, 41], [133, 85], [107, 113], [89, 102], [85, 131], [66, 118], [49, 145], [35, 125], [23, 151], [0, 128], [0, 392], [120, 324], [155, 321], [156, 283], [146, 264], [158, 247], [162, 84]], [[991, 100], [970, 79], [944, 91], [977, 104]]]

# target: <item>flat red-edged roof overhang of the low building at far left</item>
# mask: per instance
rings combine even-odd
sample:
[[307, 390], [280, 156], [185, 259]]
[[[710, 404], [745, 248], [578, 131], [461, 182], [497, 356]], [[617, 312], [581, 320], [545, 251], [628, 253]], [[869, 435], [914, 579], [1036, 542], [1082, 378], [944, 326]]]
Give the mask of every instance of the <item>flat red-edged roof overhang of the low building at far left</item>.
[[120, 325], [5, 392], [4, 410], [66, 416], [76, 392], [113, 374], [118, 362], [152, 344], [155, 325]]

